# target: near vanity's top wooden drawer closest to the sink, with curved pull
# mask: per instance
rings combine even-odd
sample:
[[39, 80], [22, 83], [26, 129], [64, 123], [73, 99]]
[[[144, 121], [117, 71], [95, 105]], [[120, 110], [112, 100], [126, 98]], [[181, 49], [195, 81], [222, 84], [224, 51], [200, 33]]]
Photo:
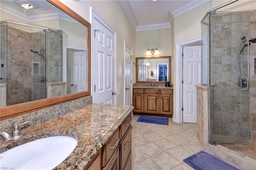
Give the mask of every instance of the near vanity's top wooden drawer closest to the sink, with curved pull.
[[119, 129], [112, 135], [112, 137], [105, 143], [102, 153], [102, 166], [106, 166], [109, 158], [113, 154], [114, 150], [119, 146]]

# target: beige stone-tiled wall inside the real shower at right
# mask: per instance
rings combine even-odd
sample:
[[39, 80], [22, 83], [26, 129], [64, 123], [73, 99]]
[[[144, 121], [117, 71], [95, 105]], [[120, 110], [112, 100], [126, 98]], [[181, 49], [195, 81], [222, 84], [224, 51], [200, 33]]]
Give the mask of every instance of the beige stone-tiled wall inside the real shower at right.
[[[255, 10], [249, 13], [223, 13], [211, 16], [211, 85], [213, 86], [212, 128], [214, 135], [256, 138], [256, 78], [250, 93], [237, 86], [240, 36], [256, 37]], [[256, 55], [250, 45], [250, 56]], [[241, 77], [247, 77], [247, 47], [241, 53]], [[248, 97], [250, 96], [250, 97]], [[250, 99], [250, 114], [248, 101]]]

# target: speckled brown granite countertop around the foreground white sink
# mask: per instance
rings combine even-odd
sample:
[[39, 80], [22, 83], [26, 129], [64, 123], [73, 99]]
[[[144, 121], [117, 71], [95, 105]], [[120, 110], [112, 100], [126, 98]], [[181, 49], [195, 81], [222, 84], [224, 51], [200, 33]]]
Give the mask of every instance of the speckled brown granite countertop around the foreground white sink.
[[132, 109], [132, 106], [91, 104], [42, 125], [21, 131], [22, 139], [2, 143], [0, 152], [44, 137], [70, 136], [78, 140], [76, 148], [54, 170], [83, 170]]

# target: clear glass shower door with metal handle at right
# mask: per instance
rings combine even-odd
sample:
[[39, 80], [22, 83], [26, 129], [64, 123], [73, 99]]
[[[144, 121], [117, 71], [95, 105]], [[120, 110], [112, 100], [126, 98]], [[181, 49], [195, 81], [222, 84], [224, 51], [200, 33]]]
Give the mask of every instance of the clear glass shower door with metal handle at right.
[[211, 143], [245, 143], [249, 141], [249, 14], [216, 12], [209, 21]]

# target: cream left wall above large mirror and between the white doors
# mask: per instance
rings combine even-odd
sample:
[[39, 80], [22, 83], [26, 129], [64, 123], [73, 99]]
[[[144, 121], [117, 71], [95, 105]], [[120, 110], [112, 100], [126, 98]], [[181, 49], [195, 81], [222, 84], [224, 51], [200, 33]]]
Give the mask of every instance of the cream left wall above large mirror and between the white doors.
[[[85, 20], [90, 21], [90, 6], [98, 12], [117, 32], [116, 70], [124, 74], [124, 40], [133, 48], [135, 54], [135, 31], [117, 0], [70, 1], [62, 0]], [[93, 58], [93, 56], [92, 56]], [[134, 56], [135, 58], [135, 56]], [[92, 70], [93, 71], [93, 70]], [[117, 75], [116, 75], [117, 76]], [[124, 80], [117, 80], [117, 104], [124, 104]]]

